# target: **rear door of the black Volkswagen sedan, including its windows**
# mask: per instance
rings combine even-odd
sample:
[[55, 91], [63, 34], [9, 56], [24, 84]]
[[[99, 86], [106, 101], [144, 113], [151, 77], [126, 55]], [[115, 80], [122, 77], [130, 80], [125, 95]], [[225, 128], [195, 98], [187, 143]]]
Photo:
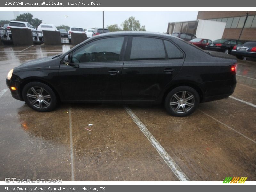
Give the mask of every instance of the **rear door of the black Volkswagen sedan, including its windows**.
[[122, 100], [156, 100], [183, 62], [183, 52], [169, 40], [130, 37], [122, 70]]

